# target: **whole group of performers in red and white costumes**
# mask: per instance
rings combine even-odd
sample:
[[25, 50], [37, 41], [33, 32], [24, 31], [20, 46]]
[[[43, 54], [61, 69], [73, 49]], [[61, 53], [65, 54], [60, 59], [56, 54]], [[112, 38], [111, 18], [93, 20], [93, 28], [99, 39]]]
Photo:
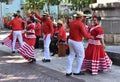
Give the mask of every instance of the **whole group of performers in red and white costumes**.
[[[35, 62], [34, 47], [37, 40], [35, 27], [40, 26], [44, 34], [44, 58], [42, 62], [51, 62], [49, 49], [51, 38], [57, 32], [56, 44], [64, 43], [67, 40], [62, 20], [58, 20], [57, 23], [52, 22], [49, 14], [46, 12], [43, 13], [42, 17], [36, 12], [31, 12], [27, 21], [23, 20], [18, 13], [14, 13], [13, 16], [14, 19], [7, 24], [12, 26], [12, 33], [2, 43], [11, 47], [12, 53], [15, 53], [17, 50], [26, 60]], [[66, 76], [71, 76], [72, 74], [84, 75], [84, 72], [81, 71], [82, 69], [91, 72], [92, 75], [96, 75], [99, 71], [109, 70], [112, 65], [112, 61], [104, 50], [104, 31], [100, 26], [101, 17], [94, 15], [92, 17], [93, 24], [87, 28], [83, 23], [85, 17], [86, 15], [82, 12], [76, 12], [75, 18], [68, 24], [70, 53], [67, 61]], [[41, 21], [42, 24], [36, 25], [36, 20]], [[25, 31], [23, 31], [24, 28], [26, 29]], [[41, 31], [38, 31], [38, 34], [41, 35]], [[88, 46], [85, 51], [82, 42], [83, 37], [88, 39]], [[76, 66], [74, 71], [72, 71], [72, 64], [75, 59]]]

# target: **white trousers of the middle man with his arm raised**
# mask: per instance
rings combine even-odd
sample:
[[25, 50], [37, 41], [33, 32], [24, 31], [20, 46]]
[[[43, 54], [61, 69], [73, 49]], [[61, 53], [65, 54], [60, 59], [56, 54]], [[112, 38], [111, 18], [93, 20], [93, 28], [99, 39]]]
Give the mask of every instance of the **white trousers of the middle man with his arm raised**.
[[44, 35], [44, 58], [45, 59], [50, 59], [50, 42], [51, 42], [51, 34]]

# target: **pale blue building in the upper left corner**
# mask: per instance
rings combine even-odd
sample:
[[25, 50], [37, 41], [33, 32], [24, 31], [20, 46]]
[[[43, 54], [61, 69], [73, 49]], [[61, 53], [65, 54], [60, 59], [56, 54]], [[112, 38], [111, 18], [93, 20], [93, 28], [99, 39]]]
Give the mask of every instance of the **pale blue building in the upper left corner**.
[[8, 0], [5, 3], [0, 2], [0, 28], [2, 26], [2, 20], [4, 17], [12, 16], [12, 14], [19, 10], [21, 15], [23, 15], [22, 6], [24, 5], [25, 0]]

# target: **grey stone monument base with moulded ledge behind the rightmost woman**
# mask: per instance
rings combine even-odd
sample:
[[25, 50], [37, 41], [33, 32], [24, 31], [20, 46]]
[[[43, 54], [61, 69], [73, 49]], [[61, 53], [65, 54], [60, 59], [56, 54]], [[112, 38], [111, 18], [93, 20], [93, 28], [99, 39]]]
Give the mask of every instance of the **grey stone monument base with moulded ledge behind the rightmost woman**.
[[97, 0], [91, 9], [102, 17], [102, 27], [107, 43], [120, 43], [120, 0]]

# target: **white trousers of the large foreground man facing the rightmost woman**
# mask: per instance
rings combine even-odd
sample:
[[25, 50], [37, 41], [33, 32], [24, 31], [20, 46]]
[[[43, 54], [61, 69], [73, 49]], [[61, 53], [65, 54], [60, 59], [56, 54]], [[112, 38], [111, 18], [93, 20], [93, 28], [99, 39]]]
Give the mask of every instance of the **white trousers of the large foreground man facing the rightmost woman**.
[[74, 68], [74, 73], [79, 73], [81, 71], [81, 66], [83, 63], [84, 56], [85, 56], [83, 43], [76, 42], [74, 40], [69, 39], [68, 44], [69, 44], [70, 54], [68, 56], [66, 73], [72, 72], [72, 64], [73, 64], [75, 55], [77, 57], [76, 57], [76, 66]]

